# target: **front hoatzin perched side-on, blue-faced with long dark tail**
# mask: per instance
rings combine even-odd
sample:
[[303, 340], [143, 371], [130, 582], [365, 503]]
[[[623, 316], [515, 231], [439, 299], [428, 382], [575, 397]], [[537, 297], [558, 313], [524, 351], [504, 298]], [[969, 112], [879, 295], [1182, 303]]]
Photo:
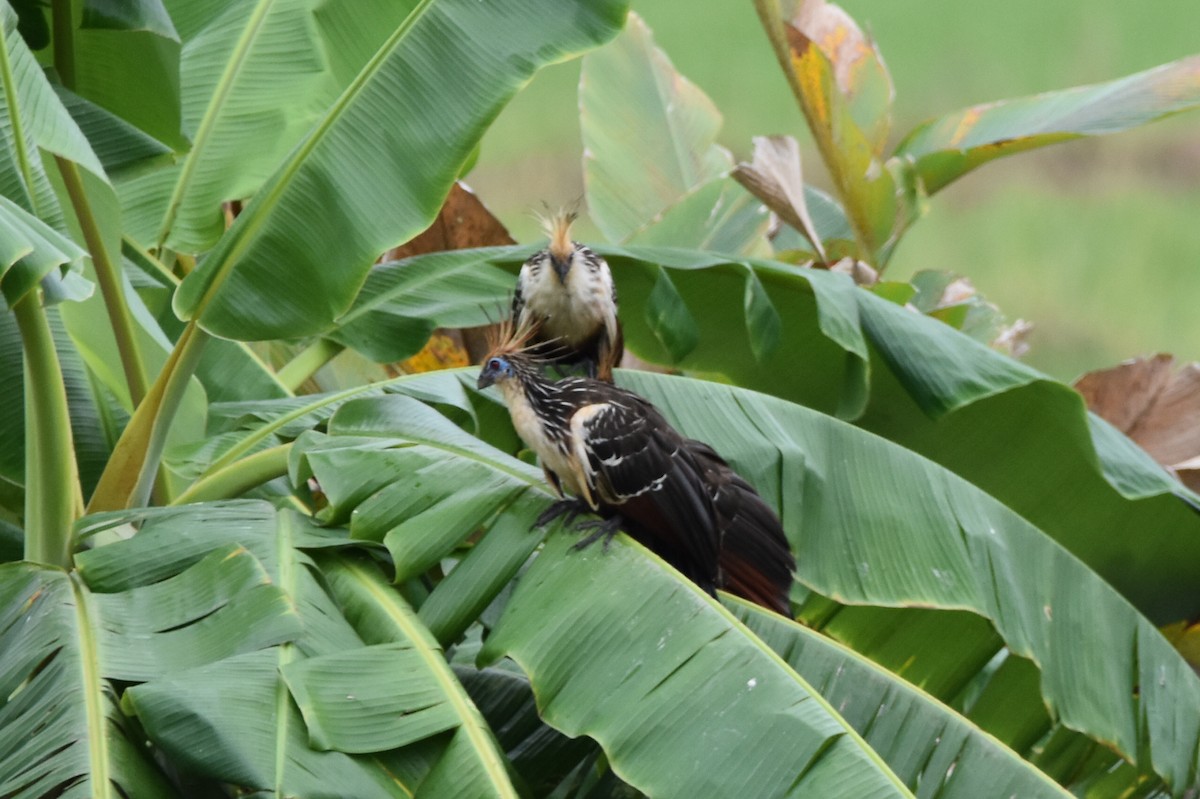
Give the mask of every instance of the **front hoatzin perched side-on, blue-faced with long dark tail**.
[[[563, 499], [546, 524], [587, 511], [584, 547], [624, 529], [708, 593], [725, 588], [784, 615], [794, 560], [779, 517], [703, 441], [680, 435], [632, 391], [590, 378], [551, 380], [520, 340], [484, 361], [524, 443]], [[571, 498], [568, 498], [568, 494]]]

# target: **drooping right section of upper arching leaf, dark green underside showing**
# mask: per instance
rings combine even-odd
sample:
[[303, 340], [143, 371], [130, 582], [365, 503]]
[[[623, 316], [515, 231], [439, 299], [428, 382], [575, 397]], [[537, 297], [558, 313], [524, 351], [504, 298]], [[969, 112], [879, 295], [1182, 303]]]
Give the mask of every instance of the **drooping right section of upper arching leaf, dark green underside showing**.
[[[971, 480], [1092, 566], [1158, 624], [1200, 608], [1200, 500], [1082, 398], [866, 292], [871, 402], [858, 423]], [[876, 360], [877, 359], [877, 360]], [[1134, 545], [1128, 531], [1142, 530]]]

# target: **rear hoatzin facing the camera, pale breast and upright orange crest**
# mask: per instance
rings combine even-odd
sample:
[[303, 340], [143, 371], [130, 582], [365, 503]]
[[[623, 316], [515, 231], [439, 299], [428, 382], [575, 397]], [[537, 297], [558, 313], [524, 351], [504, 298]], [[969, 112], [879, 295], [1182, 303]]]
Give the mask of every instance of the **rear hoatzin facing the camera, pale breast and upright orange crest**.
[[588, 377], [612, 382], [624, 340], [617, 289], [604, 258], [571, 241], [576, 215], [546, 221], [550, 244], [521, 266], [512, 295], [512, 324], [532, 330], [530, 344], [558, 365], [582, 365]]

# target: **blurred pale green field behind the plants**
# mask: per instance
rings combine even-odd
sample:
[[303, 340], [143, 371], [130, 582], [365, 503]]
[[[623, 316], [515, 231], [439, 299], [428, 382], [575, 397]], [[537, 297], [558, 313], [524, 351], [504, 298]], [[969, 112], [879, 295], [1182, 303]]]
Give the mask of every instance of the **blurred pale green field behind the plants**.
[[[1109, 80], [1200, 53], [1200, 0], [845, 0], [878, 42], [893, 142], [964, 106]], [[791, 133], [828, 182], [750, 0], [634, 0], [676, 67], [725, 115], [720, 142]], [[504, 110], [468, 182], [527, 241], [532, 212], [582, 196], [578, 61], [545, 70]], [[636, 132], [631, 132], [636, 136]], [[594, 228], [582, 228], [584, 235]], [[1072, 380], [1127, 358], [1200, 359], [1200, 112], [983, 167], [943, 191], [888, 275], [968, 276], [1034, 323], [1028, 364]]]

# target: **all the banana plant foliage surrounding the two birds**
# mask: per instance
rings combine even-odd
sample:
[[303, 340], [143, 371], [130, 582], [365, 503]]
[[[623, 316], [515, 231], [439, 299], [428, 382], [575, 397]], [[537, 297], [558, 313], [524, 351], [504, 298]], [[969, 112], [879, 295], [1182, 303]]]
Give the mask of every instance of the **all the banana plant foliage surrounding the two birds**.
[[[1200, 498], [936, 320], [978, 302], [790, 263], [756, 199], [882, 269], [985, 130], [1146, 121], [1192, 67], [881, 162], [874, 47], [762, 4], [830, 197], [780, 139], [736, 182], [617, 0], [80, 5], [0, 8], [0, 795], [1195, 789], [1200, 679], [1154, 624], [1200, 612]], [[352, 377], [503, 307], [528, 247], [373, 262], [536, 68], [613, 37], [581, 85], [596, 250], [630, 348], [718, 378], [618, 379], [779, 510], [799, 621], [533, 529], [548, 487], [469, 367]]]

